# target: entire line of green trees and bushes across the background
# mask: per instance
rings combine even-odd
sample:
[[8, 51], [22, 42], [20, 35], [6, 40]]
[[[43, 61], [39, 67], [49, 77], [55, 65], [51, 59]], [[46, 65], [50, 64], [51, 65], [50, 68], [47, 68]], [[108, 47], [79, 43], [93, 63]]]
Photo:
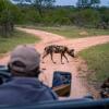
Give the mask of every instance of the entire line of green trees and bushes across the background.
[[85, 9], [55, 7], [56, 0], [34, 0], [32, 4], [23, 4], [22, 1], [15, 5], [9, 0], [0, 0], [0, 32], [2, 34], [11, 33], [14, 24], [109, 28], [109, 8], [95, 8], [100, 0], [80, 0], [80, 2], [92, 4], [92, 8]]

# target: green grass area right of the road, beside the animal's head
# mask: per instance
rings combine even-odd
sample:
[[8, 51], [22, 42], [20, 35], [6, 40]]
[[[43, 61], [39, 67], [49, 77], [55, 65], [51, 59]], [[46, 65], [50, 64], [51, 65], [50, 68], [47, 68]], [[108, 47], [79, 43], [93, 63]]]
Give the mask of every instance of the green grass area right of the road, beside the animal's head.
[[86, 60], [92, 71], [88, 81], [101, 83], [109, 77], [109, 43], [83, 50], [78, 55]]

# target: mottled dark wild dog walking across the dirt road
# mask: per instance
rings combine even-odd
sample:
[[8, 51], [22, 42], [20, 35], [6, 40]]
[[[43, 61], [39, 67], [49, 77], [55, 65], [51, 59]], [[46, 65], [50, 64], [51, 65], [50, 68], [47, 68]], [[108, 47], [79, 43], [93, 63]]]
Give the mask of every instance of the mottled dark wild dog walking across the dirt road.
[[62, 58], [63, 58], [63, 57], [64, 57], [64, 58], [66, 59], [66, 61], [69, 62], [69, 60], [68, 60], [65, 53], [68, 53], [69, 56], [71, 56], [71, 57], [74, 58], [74, 49], [69, 49], [69, 48], [65, 47], [65, 46], [50, 45], [50, 46], [45, 47], [43, 60], [45, 59], [45, 57], [47, 57], [48, 55], [50, 55], [52, 62], [56, 63], [56, 62], [53, 61], [53, 53], [60, 53], [60, 55], [61, 55], [61, 63], [62, 63], [62, 64], [63, 64], [63, 62], [62, 62]]

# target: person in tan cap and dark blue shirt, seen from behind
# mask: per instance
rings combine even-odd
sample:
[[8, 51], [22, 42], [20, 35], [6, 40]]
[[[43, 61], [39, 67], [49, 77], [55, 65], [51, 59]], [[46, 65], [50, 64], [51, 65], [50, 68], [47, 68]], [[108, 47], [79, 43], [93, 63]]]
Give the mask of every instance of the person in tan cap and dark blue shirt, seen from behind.
[[35, 104], [57, 100], [58, 96], [39, 80], [40, 55], [33, 46], [17, 46], [11, 53], [11, 81], [0, 86], [0, 105]]

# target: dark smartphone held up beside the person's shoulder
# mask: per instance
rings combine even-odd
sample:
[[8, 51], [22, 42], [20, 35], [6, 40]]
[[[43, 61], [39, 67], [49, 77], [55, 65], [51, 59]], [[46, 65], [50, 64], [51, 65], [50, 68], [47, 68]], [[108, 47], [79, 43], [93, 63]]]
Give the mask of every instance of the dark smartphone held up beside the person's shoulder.
[[64, 71], [55, 71], [52, 89], [59, 97], [69, 97], [71, 93], [71, 73]]

